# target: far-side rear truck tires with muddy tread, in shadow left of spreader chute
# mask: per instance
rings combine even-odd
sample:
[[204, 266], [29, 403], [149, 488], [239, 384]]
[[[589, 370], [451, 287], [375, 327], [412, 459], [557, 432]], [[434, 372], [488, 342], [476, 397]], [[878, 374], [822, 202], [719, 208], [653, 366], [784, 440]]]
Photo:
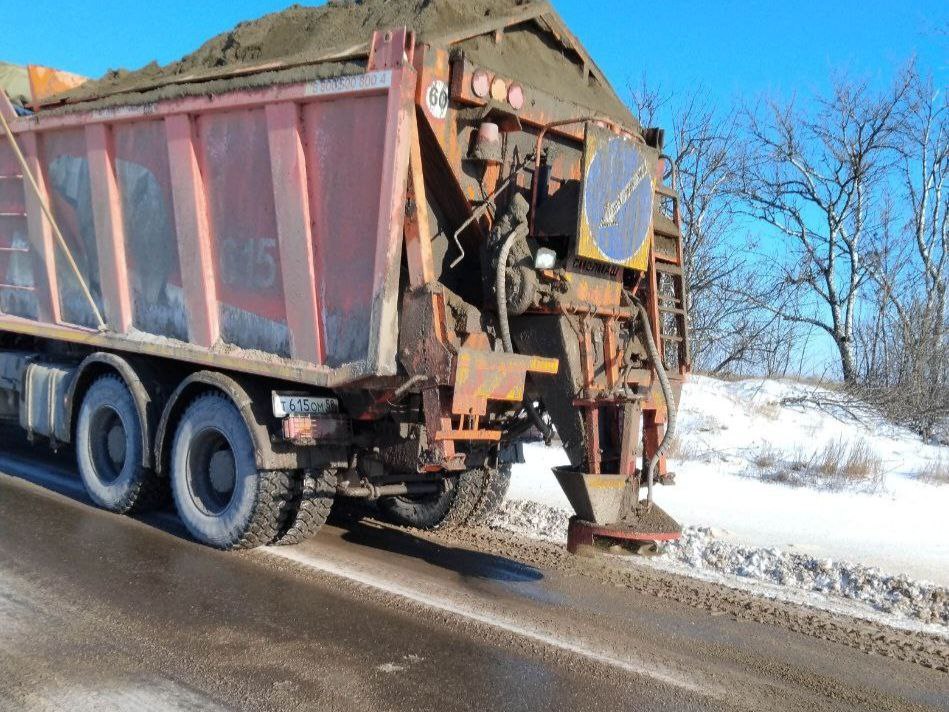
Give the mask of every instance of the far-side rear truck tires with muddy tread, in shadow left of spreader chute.
[[394, 524], [416, 529], [454, 529], [483, 524], [497, 509], [507, 486], [498, 470], [474, 468], [448, 478], [449, 487], [422, 497], [387, 497], [379, 511]]

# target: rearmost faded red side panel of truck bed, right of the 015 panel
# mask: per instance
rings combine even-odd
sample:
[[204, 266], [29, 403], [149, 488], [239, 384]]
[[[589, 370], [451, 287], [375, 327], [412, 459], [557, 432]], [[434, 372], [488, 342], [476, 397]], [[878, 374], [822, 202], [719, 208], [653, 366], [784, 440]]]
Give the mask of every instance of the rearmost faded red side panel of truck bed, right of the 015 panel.
[[365, 361], [382, 281], [375, 264], [386, 96], [309, 104], [303, 117], [326, 363]]

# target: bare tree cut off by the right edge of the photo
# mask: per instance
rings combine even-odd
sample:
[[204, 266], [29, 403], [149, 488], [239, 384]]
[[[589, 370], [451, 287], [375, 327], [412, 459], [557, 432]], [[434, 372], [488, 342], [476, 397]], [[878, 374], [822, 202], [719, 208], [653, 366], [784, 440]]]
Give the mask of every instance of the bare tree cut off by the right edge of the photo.
[[[949, 101], [909, 73], [900, 107], [896, 205], [867, 268], [877, 287], [863, 378], [889, 395], [901, 420], [925, 431], [949, 415]], [[891, 408], [892, 410], [892, 408]]]

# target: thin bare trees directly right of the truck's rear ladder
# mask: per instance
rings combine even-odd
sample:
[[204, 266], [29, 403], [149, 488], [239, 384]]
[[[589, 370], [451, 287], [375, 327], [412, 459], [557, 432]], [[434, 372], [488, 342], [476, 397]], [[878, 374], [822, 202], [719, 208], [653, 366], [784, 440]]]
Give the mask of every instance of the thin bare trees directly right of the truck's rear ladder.
[[696, 367], [708, 373], [786, 368], [789, 341], [778, 335], [779, 318], [756, 309], [736, 288], [758, 281], [731, 199], [736, 113], [716, 110], [701, 89], [666, 94], [643, 78], [630, 92], [644, 125], [671, 127], [665, 151], [676, 166]]

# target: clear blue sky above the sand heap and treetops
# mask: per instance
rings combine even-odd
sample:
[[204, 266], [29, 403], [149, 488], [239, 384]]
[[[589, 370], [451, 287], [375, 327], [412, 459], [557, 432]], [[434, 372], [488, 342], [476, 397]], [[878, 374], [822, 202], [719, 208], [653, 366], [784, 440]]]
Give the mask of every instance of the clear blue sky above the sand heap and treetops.
[[[240, 20], [288, 4], [2, 0], [0, 59], [99, 76], [110, 67], [171, 61]], [[949, 78], [949, 3], [938, 0], [554, 4], [624, 95], [627, 81], [643, 72], [667, 89], [702, 84], [722, 101], [809, 93], [836, 71], [888, 81], [912, 55], [940, 83]]]

